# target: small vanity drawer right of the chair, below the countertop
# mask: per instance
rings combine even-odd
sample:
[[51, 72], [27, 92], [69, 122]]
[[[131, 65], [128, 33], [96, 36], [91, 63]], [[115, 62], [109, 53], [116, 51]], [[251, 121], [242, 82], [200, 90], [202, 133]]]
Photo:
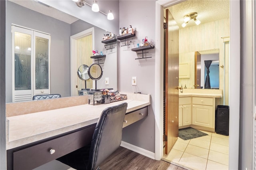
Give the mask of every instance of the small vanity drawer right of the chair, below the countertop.
[[123, 128], [127, 127], [128, 125], [131, 125], [134, 122], [139, 121], [140, 119], [143, 119], [146, 116], [148, 116], [148, 107], [144, 107], [137, 111], [127, 113], [124, 117]]

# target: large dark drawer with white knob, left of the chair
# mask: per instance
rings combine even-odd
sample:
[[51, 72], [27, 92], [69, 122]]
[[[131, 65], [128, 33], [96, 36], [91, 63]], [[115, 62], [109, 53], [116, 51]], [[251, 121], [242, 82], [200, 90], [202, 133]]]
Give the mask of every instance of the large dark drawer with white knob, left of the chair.
[[[96, 124], [64, 136], [13, 152], [13, 169], [29, 170], [82, 148], [92, 141]], [[50, 150], [54, 149], [53, 154]], [[12, 168], [10, 168], [12, 169]]]

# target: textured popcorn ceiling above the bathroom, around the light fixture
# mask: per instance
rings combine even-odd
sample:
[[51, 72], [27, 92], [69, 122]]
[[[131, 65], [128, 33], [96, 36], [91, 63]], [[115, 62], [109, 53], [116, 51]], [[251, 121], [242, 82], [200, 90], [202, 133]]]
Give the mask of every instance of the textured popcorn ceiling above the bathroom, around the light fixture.
[[[184, 15], [191, 12], [198, 13], [197, 19], [201, 24], [229, 18], [229, 0], [187, 0], [168, 9], [180, 28], [184, 22]], [[189, 21], [186, 27], [195, 25], [194, 21]]]

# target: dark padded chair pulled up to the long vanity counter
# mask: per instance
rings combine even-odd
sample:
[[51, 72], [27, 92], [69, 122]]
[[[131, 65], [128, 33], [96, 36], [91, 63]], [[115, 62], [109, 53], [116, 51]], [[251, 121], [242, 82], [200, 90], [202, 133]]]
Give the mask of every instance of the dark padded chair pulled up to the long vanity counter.
[[126, 109], [127, 103], [104, 109], [95, 127], [91, 144], [56, 160], [76, 170], [99, 170], [99, 165], [121, 144]]

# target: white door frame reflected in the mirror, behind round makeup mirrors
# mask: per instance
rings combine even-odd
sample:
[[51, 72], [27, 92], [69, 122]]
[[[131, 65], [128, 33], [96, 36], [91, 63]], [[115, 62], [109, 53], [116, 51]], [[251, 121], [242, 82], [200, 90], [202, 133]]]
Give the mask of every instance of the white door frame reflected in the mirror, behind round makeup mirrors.
[[[92, 49], [94, 49], [94, 27], [79, 32], [73, 36], [70, 36], [70, 95], [77, 96], [78, 92], [76, 89], [77, 69], [76, 68], [76, 55], [77, 55], [77, 41], [80, 38], [92, 35]], [[94, 87], [94, 81], [93, 81]]]

